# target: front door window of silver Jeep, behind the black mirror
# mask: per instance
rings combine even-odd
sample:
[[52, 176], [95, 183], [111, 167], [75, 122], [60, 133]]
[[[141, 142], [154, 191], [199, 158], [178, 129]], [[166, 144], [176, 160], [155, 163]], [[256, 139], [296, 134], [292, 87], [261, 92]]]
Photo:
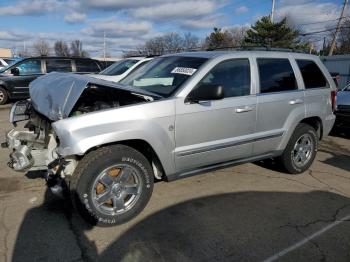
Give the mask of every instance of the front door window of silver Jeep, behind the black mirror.
[[234, 59], [221, 62], [199, 84], [221, 85], [224, 88], [225, 97], [249, 95], [249, 60]]

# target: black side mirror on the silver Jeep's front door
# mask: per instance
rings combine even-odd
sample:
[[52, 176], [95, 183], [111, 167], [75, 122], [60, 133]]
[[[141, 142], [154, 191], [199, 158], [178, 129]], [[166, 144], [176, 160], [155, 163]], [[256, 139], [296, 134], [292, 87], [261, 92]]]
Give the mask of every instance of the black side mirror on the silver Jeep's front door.
[[201, 84], [191, 91], [185, 102], [220, 100], [224, 98], [224, 88], [221, 85]]

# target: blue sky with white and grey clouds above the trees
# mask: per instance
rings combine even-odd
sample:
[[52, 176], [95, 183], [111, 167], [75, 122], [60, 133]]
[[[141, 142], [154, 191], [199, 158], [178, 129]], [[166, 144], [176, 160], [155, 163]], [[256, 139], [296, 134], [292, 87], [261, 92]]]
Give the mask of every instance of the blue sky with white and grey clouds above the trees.
[[[343, 0], [276, 0], [277, 19], [288, 15], [304, 32], [332, 29]], [[213, 27], [250, 25], [269, 14], [271, 0], [0, 0], [0, 47], [30, 48], [39, 38], [80, 39], [102, 55], [132, 50], [164, 32], [204, 38]], [[319, 41], [329, 33], [312, 34]]]

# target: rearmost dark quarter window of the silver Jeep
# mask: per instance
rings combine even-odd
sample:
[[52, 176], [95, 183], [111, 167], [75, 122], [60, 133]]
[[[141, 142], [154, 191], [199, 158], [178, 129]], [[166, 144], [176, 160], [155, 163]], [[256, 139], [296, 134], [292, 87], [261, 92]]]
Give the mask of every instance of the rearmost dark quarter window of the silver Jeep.
[[297, 60], [301, 75], [303, 76], [305, 89], [325, 88], [328, 82], [315, 62], [310, 60]]

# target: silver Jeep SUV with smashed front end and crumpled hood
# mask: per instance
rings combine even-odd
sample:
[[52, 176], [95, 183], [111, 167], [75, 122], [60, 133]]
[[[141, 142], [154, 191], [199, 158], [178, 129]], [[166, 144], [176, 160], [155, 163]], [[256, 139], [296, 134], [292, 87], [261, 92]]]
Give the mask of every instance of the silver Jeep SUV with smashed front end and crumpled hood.
[[119, 84], [51, 73], [13, 106], [10, 121], [26, 129], [3, 146], [10, 167], [47, 170], [97, 224], [120, 224], [154, 179], [267, 158], [305, 171], [333, 126], [335, 90], [318, 57], [272, 51], [163, 56]]

